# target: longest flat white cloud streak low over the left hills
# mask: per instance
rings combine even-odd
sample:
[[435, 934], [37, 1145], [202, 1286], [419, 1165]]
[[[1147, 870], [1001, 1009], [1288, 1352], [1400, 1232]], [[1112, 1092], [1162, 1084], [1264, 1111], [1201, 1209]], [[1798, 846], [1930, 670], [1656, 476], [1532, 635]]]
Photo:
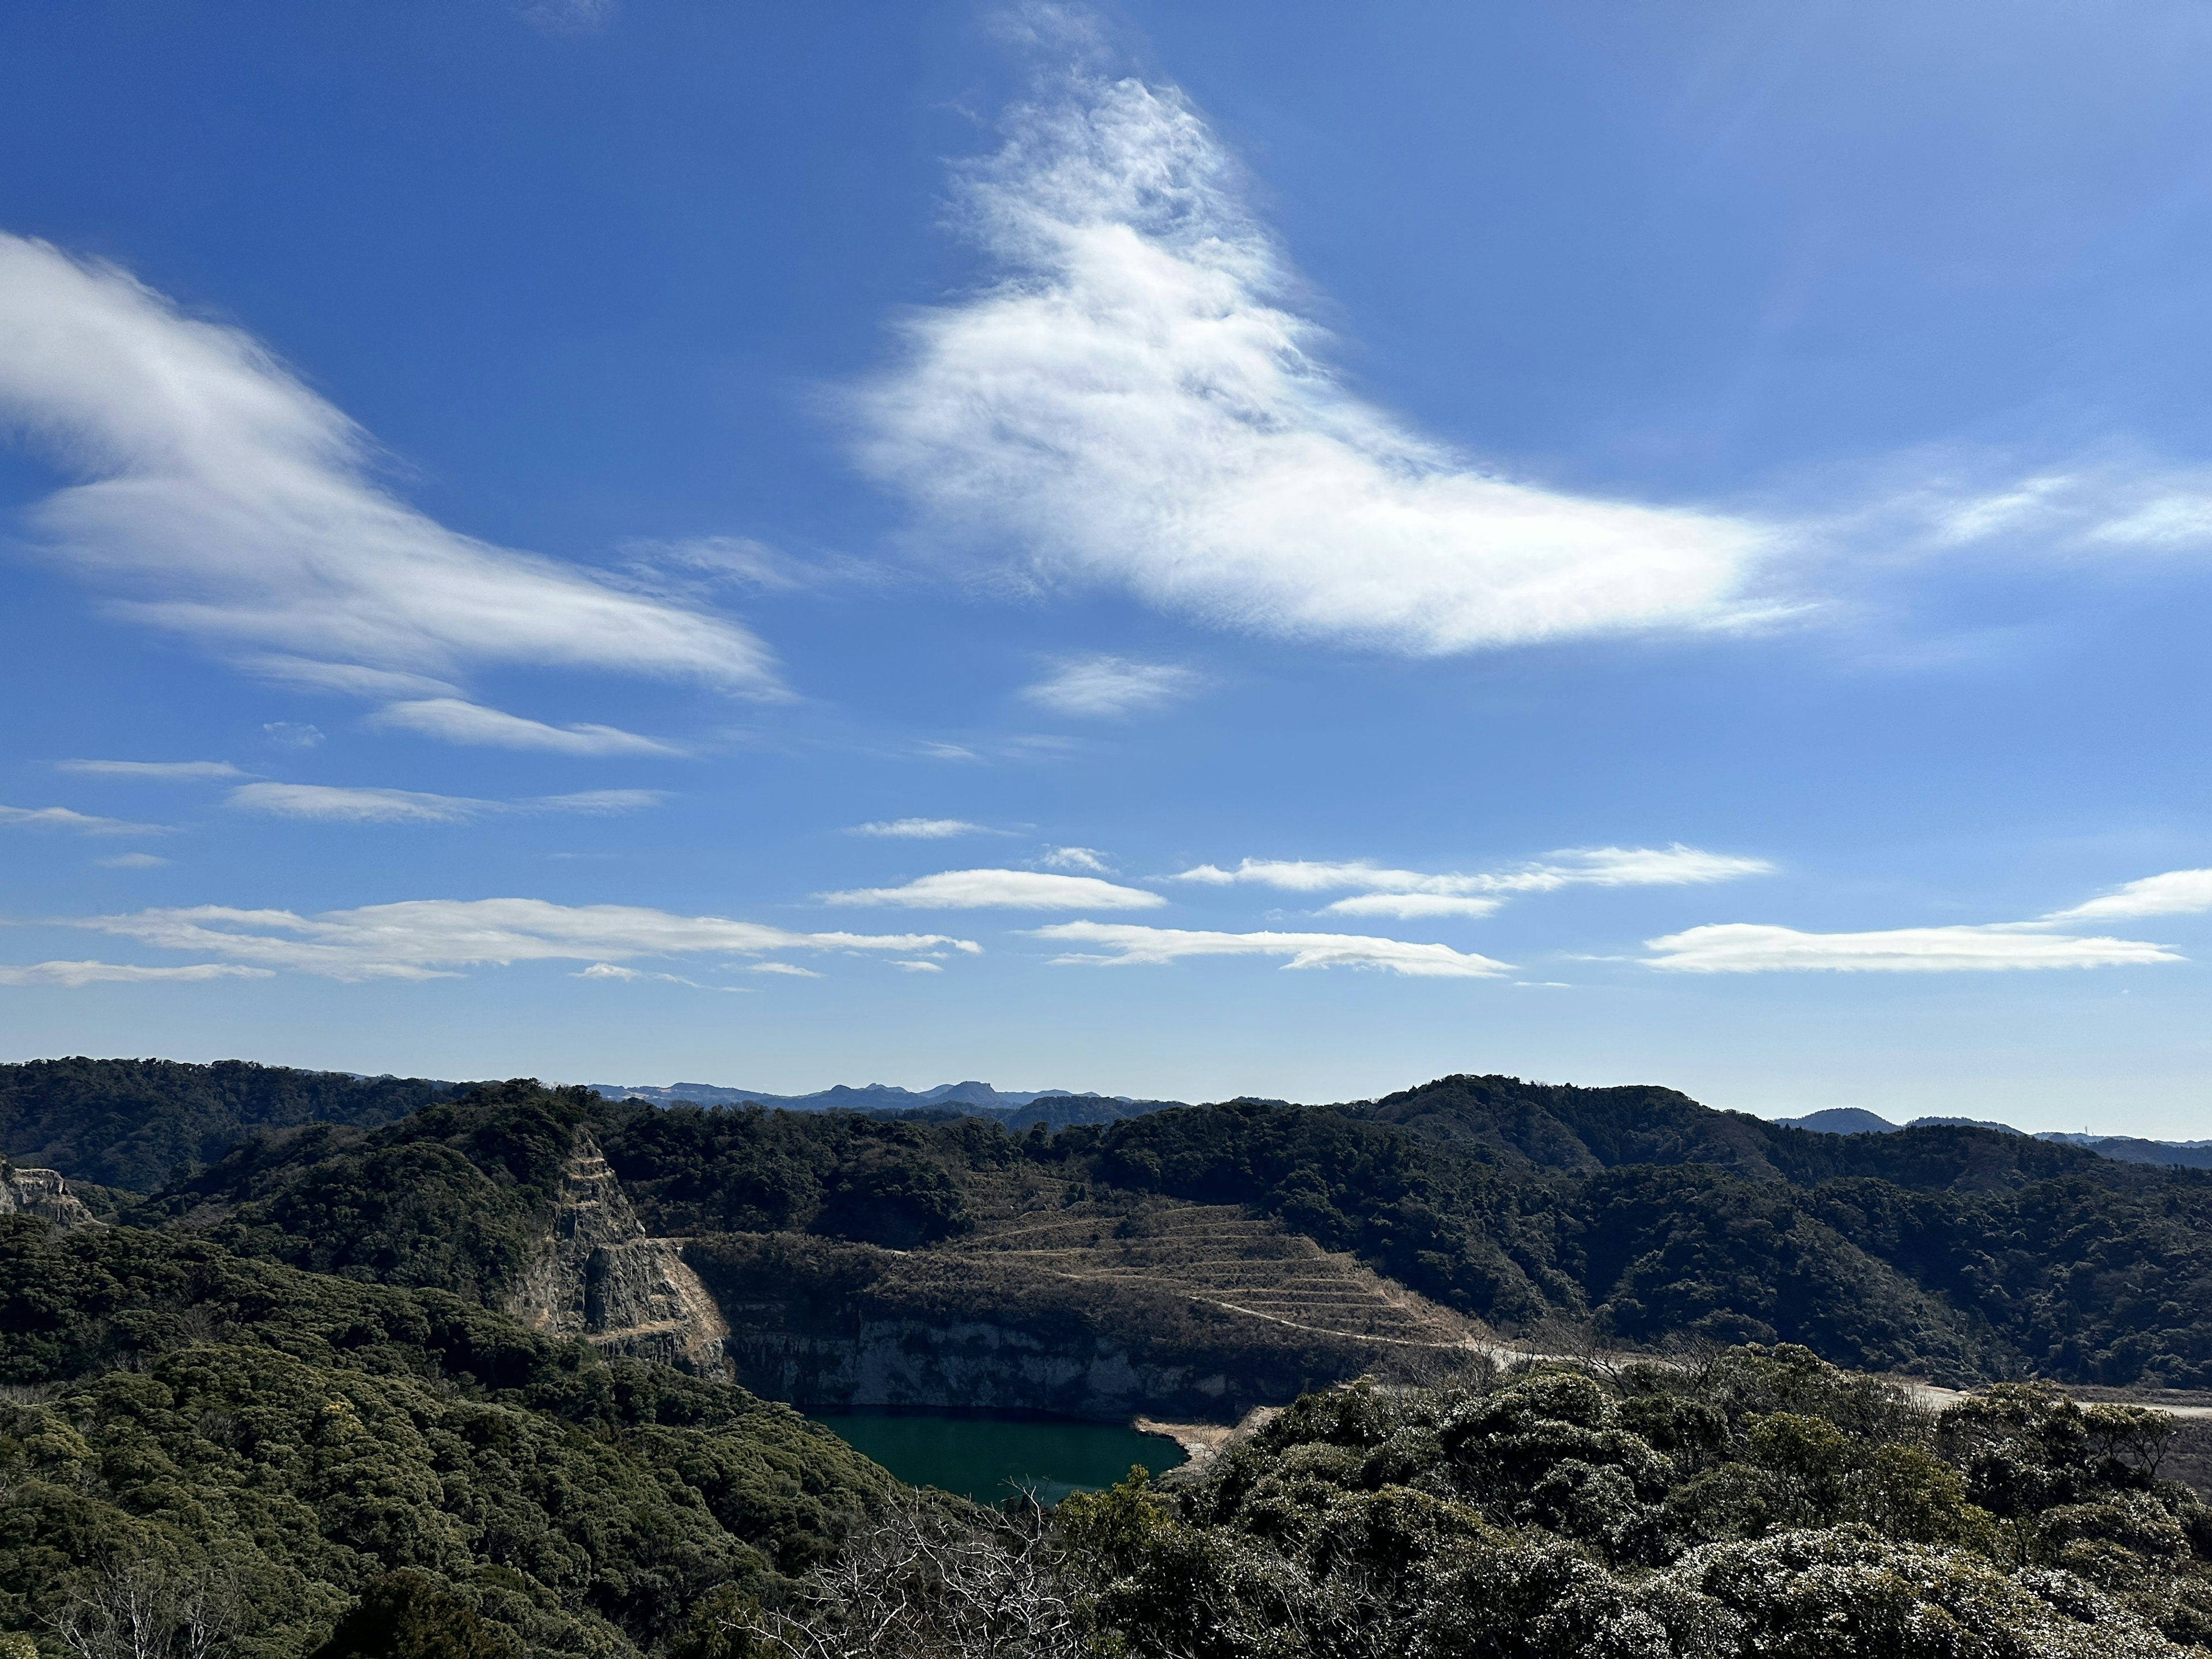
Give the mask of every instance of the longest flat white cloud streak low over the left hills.
[[721, 916], [675, 916], [639, 905], [553, 905], [542, 898], [414, 898], [321, 916], [192, 905], [62, 918], [55, 925], [334, 980], [429, 980], [487, 962], [624, 962], [697, 951], [982, 949], [945, 933], [792, 933]]

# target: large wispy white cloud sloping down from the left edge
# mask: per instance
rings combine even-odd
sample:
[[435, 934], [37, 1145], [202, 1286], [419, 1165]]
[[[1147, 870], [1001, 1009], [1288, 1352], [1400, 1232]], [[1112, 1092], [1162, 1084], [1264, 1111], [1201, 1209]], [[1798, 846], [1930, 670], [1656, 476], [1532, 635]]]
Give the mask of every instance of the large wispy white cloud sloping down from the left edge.
[[263, 668], [270, 653], [341, 677], [524, 664], [781, 692], [726, 617], [407, 507], [374, 478], [372, 440], [243, 332], [4, 234], [0, 420], [86, 478], [31, 513], [55, 555], [124, 615]]

